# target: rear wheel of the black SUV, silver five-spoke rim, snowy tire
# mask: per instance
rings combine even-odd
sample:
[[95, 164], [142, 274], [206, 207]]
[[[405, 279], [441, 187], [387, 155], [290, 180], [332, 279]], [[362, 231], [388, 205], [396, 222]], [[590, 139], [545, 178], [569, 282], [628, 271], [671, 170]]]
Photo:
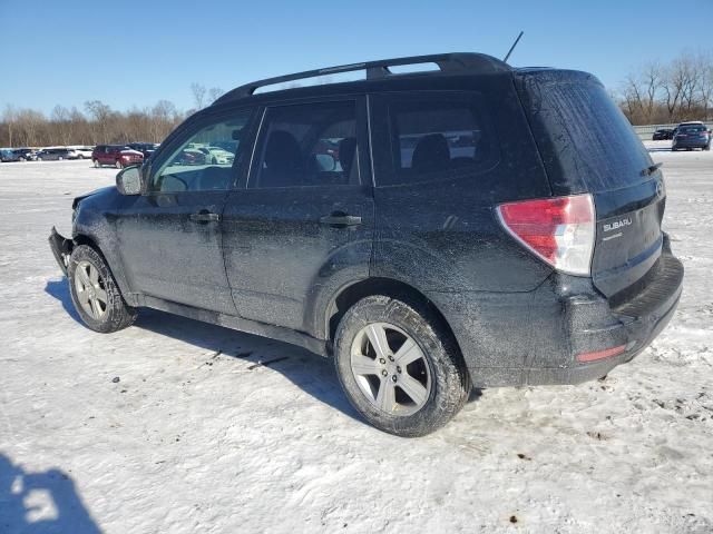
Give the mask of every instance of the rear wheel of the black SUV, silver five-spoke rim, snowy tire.
[[334, 364], [352, 406], [398, 436], [440, 428], [470, 394], [460, 352], [434, 314], [382, 295], [346, 312], [336, 330]]

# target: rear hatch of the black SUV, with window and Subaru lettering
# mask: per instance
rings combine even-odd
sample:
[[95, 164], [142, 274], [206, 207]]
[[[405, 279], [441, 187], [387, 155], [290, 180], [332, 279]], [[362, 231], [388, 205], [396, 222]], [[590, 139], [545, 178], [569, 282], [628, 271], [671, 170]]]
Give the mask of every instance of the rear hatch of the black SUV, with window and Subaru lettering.
[[515, 79], [553, 194], [594, 198], [592, 278], [621, 303], [642, 289], [662, 254], [663, 175], [594, 76], [519, 69]]

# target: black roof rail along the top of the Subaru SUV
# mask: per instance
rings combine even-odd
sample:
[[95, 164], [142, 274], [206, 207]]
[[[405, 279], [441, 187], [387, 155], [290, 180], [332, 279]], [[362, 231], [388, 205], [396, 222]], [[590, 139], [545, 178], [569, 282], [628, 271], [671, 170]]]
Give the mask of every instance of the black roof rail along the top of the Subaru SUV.
[[265, 78], [264, 80], [252, 81], [245, 83], [232, 91], [226, 92], [218, 98], [215, 103], [222, 103], [228, 100], [250, 97], [261, 87], [274, 86], [286, 81], [302, 80], [305, 78], [315, 78], [319, 76], [334, 75], [339, 72], [351, 72], [355, 70], [365, 70], [367, 79], [383, 79], [393, 76], [389, 67], [402, 65], [436, 63], [443, 73], [458, 72], [499, 72], [511, 70], [504, 61], [485, 53], [458, 52], [458, 53], [437, 53], [432, 56], [412, 56], [408, 58], [382, 59], [379, 61], [364, 61], [361, 63], [341, 65], [338, 67], [326, 67], [323, 69], [306, 70], [294, 75], [277, 76], [274, 78]]

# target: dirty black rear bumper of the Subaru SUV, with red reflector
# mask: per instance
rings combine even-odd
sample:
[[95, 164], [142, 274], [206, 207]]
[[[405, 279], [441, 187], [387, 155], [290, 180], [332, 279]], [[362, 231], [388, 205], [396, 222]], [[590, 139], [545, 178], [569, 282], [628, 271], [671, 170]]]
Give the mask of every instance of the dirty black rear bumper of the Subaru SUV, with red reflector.
[[[578, 384], [632, 360], [673, 317], [683, 266], [664, 243], [646, 286], [615, 308], [590, 279], [560, 274], [524, 294], [429, 297], [449, 322], [476, 387]], [[613, 347], [619, 354], [577, 358]]]

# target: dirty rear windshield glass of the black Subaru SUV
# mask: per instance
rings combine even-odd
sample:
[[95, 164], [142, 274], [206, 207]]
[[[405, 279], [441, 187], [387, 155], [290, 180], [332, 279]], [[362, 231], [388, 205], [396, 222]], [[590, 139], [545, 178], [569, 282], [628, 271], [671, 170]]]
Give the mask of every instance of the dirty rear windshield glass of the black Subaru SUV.
[[[543, 70], [518, 89], [555, 192], [598, 192], [649, 179], [651, 157], [604, 86], [585, 72]], [[564, 191], [563, 191], [564, 190]]]

